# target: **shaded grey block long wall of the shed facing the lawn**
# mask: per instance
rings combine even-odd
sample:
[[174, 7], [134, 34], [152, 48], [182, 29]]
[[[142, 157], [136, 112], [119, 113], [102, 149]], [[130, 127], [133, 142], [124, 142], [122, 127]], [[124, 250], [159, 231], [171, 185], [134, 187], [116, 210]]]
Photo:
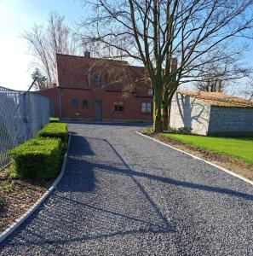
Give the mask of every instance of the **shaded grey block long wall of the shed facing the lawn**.
[[253, 134], [253, 108], [211, 107], [209, 134]]

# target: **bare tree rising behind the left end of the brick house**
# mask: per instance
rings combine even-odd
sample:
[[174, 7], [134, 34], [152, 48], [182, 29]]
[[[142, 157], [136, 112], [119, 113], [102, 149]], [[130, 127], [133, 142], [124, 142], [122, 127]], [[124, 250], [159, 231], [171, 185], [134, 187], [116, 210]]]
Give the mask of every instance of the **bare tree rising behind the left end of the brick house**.
[[49, 15], [47, 26], [34, 25], [22, 37], [29, 43], [36, 66], [46, 75], [49, 86], [56, 82], [56, 54], [75, 54], [78, 50], [72, 30], [55, 12]]

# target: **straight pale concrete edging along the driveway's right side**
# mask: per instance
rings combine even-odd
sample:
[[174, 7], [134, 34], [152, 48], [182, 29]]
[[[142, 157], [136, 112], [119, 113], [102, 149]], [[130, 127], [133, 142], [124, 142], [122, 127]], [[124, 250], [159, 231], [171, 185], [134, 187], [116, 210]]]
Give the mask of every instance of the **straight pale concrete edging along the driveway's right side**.
[[216, 168], [220, 169], [221, 171], [227, 172], [227, 173], [229, 173], [230, 175], [232, 175], [233, 177], [238, 177], [238, 178], [242, 179], [244, 182], [250, 183], [251, 185], [253, 185], [253, 181], [251, 181], [250, 179], [248, 179], [248, 178], [246, 178], [246, 177], [243, 177], [243, 176], [241, 176], [241, 175], [239, 175], [239, 174], [237, 174], [237, 173], [234, 173], [234, 172], [232, 172], [232, 171], [229, 171], [229, 170], [227, 170], [227, 169], [224, 168], [224, 167], [217, 166], [216, 164], [213, 164], [212, 162], [210, 162], [210, 161], [208, 161], [208, 160], [204, 160], [203, 158], [200, 158], [200, 157], [198, 157], [198, 156], [196, 156], [196, 155], [187, 153], [187, 152], [185, 152], [185, 151], [183, 151], [183, 150], [181, 150], [181, 149], [178, 149], [178, 148], [175, 148], [175, 147], [173, 147], [173, 146], [170, 146], [169, 144], [162, 143], [162, 142], [158, 141], [157, 139], [154, 139], [154, 138], [152, 138], [152, 137], [149, 137], [149, 136], [147, 136], [147, 135], [142, 134], [142, 133], [139, 132], [139, 131], [135, 131], [135, 132], [136, 132], [137, 134], [143, 136], [143, 137], [149, 138], [150, 140], [152, 140], [152, 141], [154, 141], [154, 142], [160, 143], [160, 144], [162, 144], [162, 145], [164, 145], [164, 146], [167, 146], [167, 147], [169, 147], [169, 148], [173, 148], [173, 149], [175, 149], [176, 151], [179, 151], [179, 152], [181, 152], [181, 153], [183, 153], [183, 154], [190, 155], [190, 156], [193, 157], [194, 159], [202, 160], [202, 161], [204, 161], [205, 163], [209, 164], [210, 166], [215, 166]]

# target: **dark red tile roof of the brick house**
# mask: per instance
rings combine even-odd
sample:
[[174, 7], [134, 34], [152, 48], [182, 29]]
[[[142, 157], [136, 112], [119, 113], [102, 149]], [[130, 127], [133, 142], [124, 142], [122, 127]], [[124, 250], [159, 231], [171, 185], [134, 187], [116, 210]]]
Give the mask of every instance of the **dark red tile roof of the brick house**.
[[61, 88], [91, 89], [91, 78], [89, 81], [85, 79], [85, 70], [89, 75], [101, 75], [104, 90], [122, 91], [129, 87], [129, 84], [136, 84], [136, 80], [147, 77], [145, 67], [129, 66], [127, 61], [61, 54], [56, 55], [56, 61]]

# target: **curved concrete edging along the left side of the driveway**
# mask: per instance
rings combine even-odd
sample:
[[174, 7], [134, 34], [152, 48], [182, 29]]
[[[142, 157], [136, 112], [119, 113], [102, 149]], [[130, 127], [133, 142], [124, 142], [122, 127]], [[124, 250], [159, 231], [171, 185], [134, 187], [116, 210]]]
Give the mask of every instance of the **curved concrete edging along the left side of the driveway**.
[[57, 184], [60, 182], [61, 177], [63, 176], [63, 173], [65, 172], [66, 158], [67, 158], [67, 154], [68, 154], [68, 149], [69, 149], [71, 137], [72, 137], [72, 134], [69, 133], [66, 153], [64, 154], [60, 174], [58, 175], [58, 177], [56, 177], [55, 182], [43, 194], [43, 196], [32, 207], [30, 207], [30, 209], [27, 212], [25, 212], [20, 218], [15, 219], [14, 224], [11, 224], [9, 226], [9, 228], [4, 230], [3, 233], [0, 234], [0, 243], [4, 239], [6, 239], [9, 235], [11, 235], [14, 232], [14, 230], [16, 230], [20, 226], [20, 224], [23, 224], [25, 222], [26, 218], [30, 217], [32, 215], [32, 213], [35, 212], [39, 206], [41, 206], [43, 201], [45, 201], [49, 197], [49, 195], [53, 192], [53, 190], [56, 188]]

